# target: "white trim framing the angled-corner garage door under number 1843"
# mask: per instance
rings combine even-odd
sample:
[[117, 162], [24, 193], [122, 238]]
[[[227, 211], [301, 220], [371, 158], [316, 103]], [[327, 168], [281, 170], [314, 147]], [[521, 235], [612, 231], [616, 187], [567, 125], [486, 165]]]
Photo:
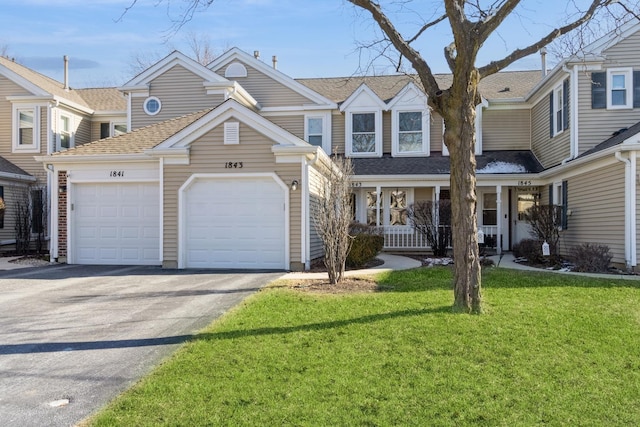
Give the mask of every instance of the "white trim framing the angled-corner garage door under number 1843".
[[185, 192], [189, 189], [191, 184], [198, 179], [252, 179], [252, 178], [271, 178], [276, 184], [282, 188], [284, 193], [284, 269], [290, 268], [290, 203], [289, 203], [289, 186], [285, 184], [282, 179], [275, 172], [254, 172], [254, 173], [194, 173], [180, 186], [178, 189], [178, 268], [184, 269], [186, 265], [186, 197]]

